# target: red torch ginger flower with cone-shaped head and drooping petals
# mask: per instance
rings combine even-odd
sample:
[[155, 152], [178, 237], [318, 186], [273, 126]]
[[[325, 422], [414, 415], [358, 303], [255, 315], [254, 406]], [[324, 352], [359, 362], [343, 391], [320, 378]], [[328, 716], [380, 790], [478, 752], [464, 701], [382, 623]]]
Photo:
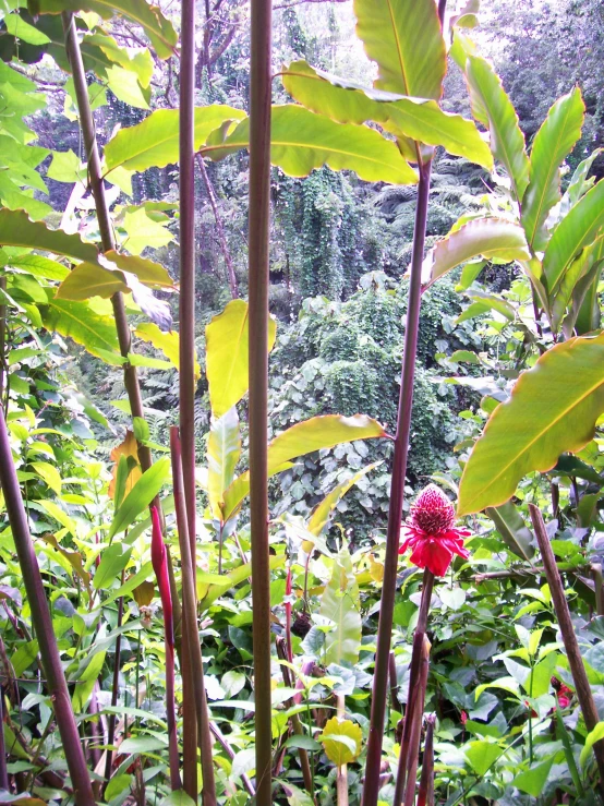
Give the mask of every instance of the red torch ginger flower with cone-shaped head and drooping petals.
[[402, 525], [404, 541], [399, 554], [411, 549], [410, 560], [418, 568], [427, 568], [435, 576], [447, 573], [454, 554], [467, 560], [463, 538], [472, 532], [455, 526], [455, 508], [445, 493], [435, 484], [428, 484], [411, 505], [411, 516]]

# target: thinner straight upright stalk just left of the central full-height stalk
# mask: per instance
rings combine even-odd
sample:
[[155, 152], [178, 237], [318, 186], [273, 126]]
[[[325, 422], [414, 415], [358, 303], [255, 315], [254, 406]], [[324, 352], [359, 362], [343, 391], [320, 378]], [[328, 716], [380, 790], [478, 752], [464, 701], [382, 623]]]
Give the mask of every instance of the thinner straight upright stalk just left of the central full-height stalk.
[[191, 556], [195, 556], [195, 0], [182, 0], [180, 25], [180, 434]]

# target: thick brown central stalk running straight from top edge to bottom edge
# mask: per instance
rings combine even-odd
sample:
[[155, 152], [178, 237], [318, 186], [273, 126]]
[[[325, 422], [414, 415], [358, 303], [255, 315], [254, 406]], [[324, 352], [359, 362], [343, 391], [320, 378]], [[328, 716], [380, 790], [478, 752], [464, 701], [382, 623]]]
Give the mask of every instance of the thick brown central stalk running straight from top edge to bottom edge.
[[268, 557], [268, 246], [271, 0], [251, 0], [250, 77], [250, 521], [254, 607], [256, 803], [271, 804], [270, 573]]

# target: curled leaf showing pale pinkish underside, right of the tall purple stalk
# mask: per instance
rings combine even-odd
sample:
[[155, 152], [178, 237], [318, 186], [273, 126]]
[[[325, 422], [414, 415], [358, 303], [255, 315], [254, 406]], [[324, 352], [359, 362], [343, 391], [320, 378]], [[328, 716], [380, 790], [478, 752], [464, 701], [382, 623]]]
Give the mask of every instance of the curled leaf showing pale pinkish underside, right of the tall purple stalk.
[[476, 218], [449, 232], [430, 250], [422, 267], [422, 282], [430, 286], [474, 257], [511, 263], [530, 256], [522, 227], [504, 218]]

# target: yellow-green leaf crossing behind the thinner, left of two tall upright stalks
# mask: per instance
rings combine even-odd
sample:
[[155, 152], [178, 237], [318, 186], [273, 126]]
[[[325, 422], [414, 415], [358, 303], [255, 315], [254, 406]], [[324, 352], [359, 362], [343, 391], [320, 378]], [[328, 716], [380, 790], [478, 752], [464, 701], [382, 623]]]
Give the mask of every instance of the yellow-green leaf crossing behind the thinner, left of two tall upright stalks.
[[[209, 106], [195, 109], [195, 149], [227, 120], [241, 120], [245, 112], [229, 106]], [[157, 109], [137, 125], [121, 129], [105, 147], [107, 172], [117, 167], [144, 171], [164, 168], [179, 158], [178, 109]]]

